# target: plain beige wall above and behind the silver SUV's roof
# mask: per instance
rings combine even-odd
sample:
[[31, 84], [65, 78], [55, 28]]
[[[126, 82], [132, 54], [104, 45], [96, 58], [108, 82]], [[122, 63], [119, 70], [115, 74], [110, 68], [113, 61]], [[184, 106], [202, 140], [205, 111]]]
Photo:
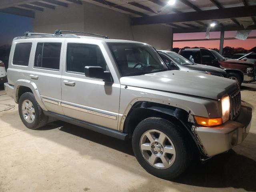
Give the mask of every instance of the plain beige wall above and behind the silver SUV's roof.
[[131, 26], [131, 18], [114, 10], [84, 2], [68, 8], [36, 12], [32, 21], [34, 32], [53, 33], [55, 29], [78, 30], [108, 35], [110, 38], [146, 42], [158, 49], [171, 48], [172, 28], [160, 24]]

